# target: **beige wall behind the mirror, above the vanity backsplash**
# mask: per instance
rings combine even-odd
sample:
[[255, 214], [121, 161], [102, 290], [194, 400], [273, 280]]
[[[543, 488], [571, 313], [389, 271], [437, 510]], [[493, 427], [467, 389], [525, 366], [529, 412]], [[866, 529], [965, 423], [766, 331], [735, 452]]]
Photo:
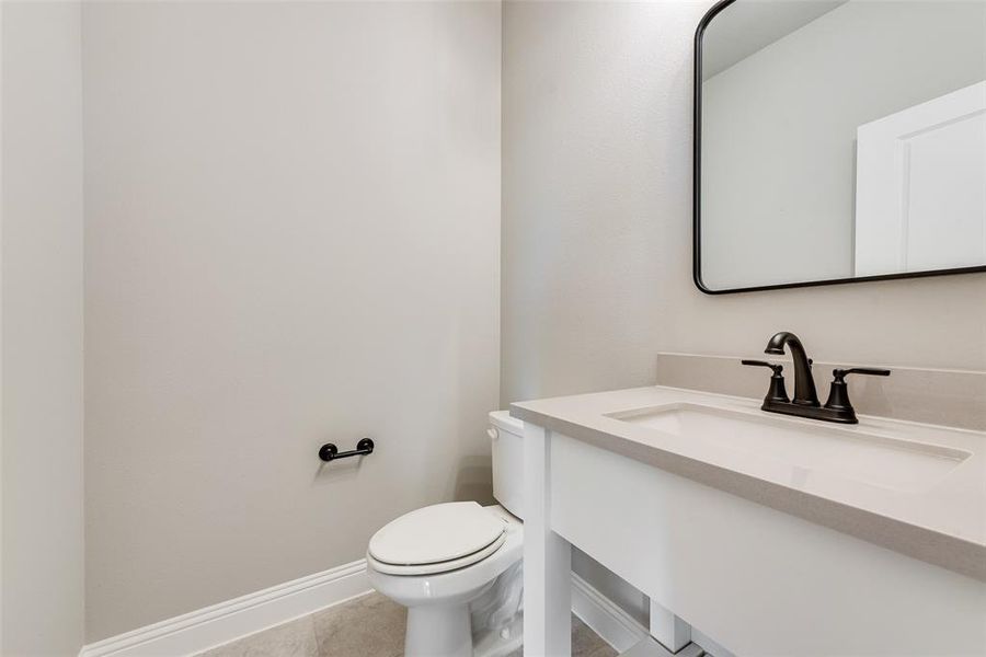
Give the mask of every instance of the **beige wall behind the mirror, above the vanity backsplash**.
[[501, 401], [646, 385], [658, 351], [986, 370], [986, 275], [709, 297], [692, 36], [711, 2], [507, 2]]

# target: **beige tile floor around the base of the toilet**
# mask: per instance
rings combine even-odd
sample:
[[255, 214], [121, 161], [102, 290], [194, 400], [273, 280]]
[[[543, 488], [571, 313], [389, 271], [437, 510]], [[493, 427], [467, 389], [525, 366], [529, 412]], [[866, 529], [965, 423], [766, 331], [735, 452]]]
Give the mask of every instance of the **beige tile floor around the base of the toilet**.
[[[400, 657], [404, 654], [405, 620], [403, 607], [379, 593], [367, 593], [196, 657]], [[573, 656], [615, 657], [616, 654], [572, 616]]]

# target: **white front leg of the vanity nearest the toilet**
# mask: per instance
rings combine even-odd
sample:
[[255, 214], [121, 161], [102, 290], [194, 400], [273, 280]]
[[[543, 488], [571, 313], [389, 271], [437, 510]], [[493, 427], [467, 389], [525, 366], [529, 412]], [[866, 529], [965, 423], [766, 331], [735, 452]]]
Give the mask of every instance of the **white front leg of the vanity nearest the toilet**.
[[551, 531], [551, 434], [524, 423], [524, 655], [572, 654], [572, 549]]

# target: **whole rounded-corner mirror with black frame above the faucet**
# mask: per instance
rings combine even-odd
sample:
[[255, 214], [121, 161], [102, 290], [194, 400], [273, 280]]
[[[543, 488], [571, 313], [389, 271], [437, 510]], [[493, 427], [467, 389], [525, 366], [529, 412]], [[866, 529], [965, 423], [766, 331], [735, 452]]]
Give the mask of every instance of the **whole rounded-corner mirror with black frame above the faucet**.
[[703, 291], [986, 270], [986, 0], [725, 0], [695, 113]]

